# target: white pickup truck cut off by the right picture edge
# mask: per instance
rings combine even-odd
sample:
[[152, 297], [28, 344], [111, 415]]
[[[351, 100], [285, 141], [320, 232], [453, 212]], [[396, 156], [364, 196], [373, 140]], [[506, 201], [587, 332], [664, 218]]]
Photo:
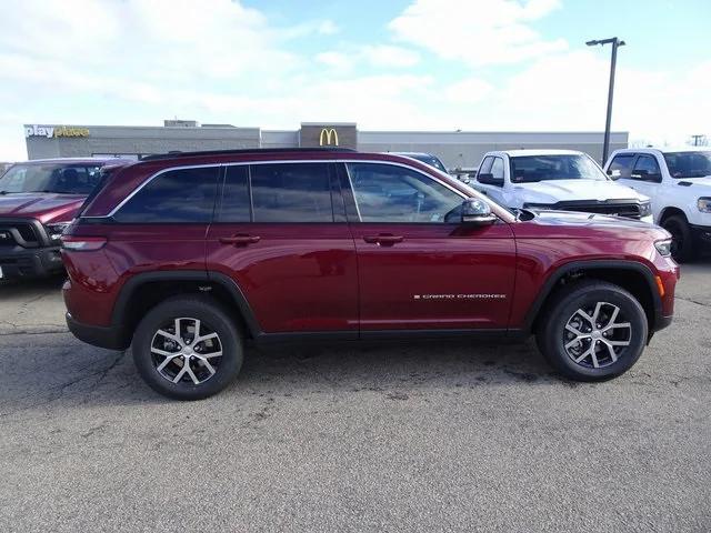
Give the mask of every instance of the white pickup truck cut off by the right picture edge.
[[672, 255], [693, 259], [711, 249], [711, 149], [615, 150], [605, 172], [652, 199], [654, 222], [672, 235]]

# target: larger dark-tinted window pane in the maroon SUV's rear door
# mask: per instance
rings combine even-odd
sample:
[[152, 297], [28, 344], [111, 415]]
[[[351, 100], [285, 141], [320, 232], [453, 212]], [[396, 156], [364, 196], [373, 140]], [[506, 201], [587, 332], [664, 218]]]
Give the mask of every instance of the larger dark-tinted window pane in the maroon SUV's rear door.
[[333, 222], [328, 163], [250, 167], [254, 222]]

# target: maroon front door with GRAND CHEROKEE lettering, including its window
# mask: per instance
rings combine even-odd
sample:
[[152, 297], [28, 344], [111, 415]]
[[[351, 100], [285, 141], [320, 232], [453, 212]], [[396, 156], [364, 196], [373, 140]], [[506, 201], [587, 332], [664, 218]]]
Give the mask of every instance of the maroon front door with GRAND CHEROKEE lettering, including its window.
[[341, 171], [352, 203], [364, 336], [508, 326], [515, 269], [508, 224], [445, 221], [464, 197], [410, 167], [352, 162]]

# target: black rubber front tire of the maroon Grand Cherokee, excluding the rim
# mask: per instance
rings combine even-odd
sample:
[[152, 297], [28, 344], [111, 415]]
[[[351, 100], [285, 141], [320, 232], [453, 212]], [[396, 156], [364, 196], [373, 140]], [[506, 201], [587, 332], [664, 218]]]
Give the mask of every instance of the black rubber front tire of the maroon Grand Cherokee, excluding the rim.
[[[588, 369], [575, 363], [564, 348], [565, 324], [578, 309], [594, 302], [612, 303], [620, 308], [627, 322], [632, 325], [631, 343], [617, 362], [602, 369]], [[602, 381], [629, 370], [644, 351], [648, 338], [647, 315], [642, 305], [627, 291], [614, 285], [609, 288], [588, 286], [572, 291], [553, 309], [542, 340], [544, 355], [564, 375], [582, 381]]]

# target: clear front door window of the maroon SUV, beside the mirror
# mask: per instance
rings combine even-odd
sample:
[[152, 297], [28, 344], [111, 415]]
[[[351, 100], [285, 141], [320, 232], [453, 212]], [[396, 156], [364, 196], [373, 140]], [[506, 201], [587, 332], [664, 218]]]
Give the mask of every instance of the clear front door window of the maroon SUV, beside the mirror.
[[463, 198], [432, 178], [393, 164], [349, 163], [361, 222], [444, 222]]

